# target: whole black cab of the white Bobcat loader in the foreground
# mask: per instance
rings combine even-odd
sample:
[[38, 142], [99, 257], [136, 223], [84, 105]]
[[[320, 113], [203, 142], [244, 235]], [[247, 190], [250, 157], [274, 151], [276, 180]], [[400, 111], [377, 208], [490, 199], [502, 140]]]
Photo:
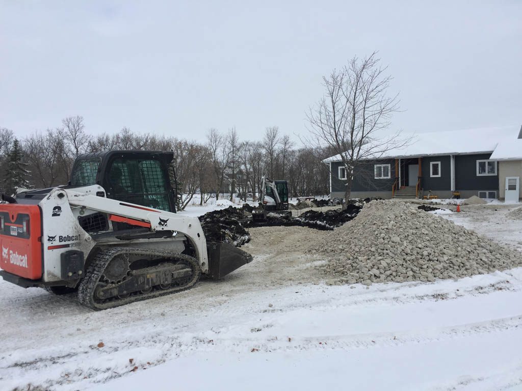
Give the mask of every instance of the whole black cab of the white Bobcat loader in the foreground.
[[159, 151], [83, 154], [74, 163], [69, 186], [100, 185], [107, 198], [175, 212], [175, 192], [169, 176], [173, 156], [173, 152]]

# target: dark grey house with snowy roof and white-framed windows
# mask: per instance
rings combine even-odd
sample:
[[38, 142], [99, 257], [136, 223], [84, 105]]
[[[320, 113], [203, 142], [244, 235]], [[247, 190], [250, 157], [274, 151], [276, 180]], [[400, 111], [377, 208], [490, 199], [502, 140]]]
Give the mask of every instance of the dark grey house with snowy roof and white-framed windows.
[[[502, 145], [515, 150], [515, 142], [522, 151], [522, 129], [418, 133], [407, 146], [361, 162], [353, 173], [351, 197], [418, 198], [431, 194], [450, 198], [458, 192], [461, 198], [503, 199], [504, 182], [511, 178], [510, 186], [516, 187], [520, 198], [522, 152], [515, 157], [494, 154]], [[330, 198], [343, 198], [347, 173], [340, 156], [323, 163], [330, 168]]]

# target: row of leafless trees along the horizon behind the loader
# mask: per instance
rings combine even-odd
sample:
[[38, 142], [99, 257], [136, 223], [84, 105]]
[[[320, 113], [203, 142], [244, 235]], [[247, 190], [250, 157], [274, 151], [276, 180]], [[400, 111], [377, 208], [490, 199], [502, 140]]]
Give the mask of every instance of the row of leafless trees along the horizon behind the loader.
[[35, 131], [18, 139], [0, 128], [2, 193], [15, 188], [50, 188], [67, 184], [75, 158], [82, 153], [111, 150], [173, 151], [183, 196], [181, 207], [200, 194], [256, 200], [262, 177], [286, 179], [290, 197], [328, 194], [329, 171], [322, 160], [331, 150], [296, 146], [277, 126], [267, 127], [262, 140], [242, 140], [235, 128], [209, 129], [205, 142], [168, 135], [138, 133], [124, 127], [117, 133], [90, 135], [81, 116], [67, 117], [61, 126]]

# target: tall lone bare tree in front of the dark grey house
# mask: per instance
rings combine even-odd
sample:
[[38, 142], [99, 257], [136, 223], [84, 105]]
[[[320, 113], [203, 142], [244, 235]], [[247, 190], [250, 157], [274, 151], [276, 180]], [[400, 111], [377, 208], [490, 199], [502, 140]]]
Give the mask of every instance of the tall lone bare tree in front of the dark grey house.
[[[388, 96], [391, 76], [379, 65], [376, 53], [353, 57], [341, 70], [323, 77], [325, 95], [307, 114], [316, 142], [339, 155], [346, 170], [345, 199], [350, 198], [353, 175], [362, 174], [365, 160], [378, 160], [386, 152], [409, 143], [400, 132], [383, 136], [398, 111], [398, 95]], [[373, 173], [372, 173], [373, 174]]]

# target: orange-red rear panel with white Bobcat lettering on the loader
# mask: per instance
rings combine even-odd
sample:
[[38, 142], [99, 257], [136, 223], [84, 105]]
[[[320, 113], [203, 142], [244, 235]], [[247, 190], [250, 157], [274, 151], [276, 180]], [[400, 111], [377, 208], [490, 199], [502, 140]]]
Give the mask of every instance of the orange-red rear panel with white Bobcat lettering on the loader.
[[42, 222], [38, 205], [0, 204], [0, 268], [17, 276], [42, 277]]

